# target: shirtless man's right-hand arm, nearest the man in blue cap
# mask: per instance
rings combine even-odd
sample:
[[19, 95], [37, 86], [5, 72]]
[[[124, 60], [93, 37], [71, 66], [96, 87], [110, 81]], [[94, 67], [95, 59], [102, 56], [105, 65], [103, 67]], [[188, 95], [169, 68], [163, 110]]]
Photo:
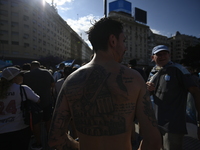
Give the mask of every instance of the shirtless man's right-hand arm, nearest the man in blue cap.
[[140, 150], [160, 150], [162, 148], [161, 133], [157, 127], [157, 121], [150, 101], [150, 96], [145, 84], [139, 93], [136, 106], [136, 117], [141, 128], [143, 141]]

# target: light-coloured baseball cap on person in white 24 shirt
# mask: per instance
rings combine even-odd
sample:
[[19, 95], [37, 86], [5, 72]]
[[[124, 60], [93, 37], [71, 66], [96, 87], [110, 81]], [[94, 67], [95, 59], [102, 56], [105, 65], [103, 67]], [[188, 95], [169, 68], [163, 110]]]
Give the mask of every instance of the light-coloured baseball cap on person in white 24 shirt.
[[20, 73], [23, 73], [23, 72], [16, 67], [7, 67], [3, 69], [2, 77], [5, 78], [6, 80], [11, 80]]

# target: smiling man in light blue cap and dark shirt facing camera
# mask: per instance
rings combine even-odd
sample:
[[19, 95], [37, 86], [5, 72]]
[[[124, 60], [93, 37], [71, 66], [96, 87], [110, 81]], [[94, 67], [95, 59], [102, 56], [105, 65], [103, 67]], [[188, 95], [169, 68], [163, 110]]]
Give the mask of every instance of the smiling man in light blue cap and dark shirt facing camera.
[[[184, 134], [187, 133], [187, 94], [190, 92], [193, 95], [197, 112], [200, 113], [200, 90], [185, 67], [170, 61], [170, 49], [167, 46], [154, 47], [152, 61], [156, 66], [151, 70], [146, 84], [153, 96], [164, 149], [181, 150]], [[200, 132], [198, 137], [200, 138]]]

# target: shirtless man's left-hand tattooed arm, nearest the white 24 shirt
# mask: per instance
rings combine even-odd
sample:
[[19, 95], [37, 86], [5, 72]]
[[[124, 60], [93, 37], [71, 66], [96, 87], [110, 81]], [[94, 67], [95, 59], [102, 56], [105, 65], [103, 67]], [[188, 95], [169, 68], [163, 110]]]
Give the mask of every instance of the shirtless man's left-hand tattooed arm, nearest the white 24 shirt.
[[78, 142], [67, 134], [71, 120], [69, 104], [64, 90], [60, 93], [53, 114], [48, 144], [56, 150], [78, 149]]

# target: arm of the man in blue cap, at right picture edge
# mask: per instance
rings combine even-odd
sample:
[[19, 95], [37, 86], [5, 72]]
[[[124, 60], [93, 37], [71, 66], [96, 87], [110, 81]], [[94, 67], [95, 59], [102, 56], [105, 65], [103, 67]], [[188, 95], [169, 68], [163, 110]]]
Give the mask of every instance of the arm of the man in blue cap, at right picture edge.
[[198, 120], [198, 138], [200, 140], [200, 89], [198, 87], [190, 87], [189, 92], [192, 94], [194, 101], [195, 101], [195, 107], [197, 110], [197, 120]]

